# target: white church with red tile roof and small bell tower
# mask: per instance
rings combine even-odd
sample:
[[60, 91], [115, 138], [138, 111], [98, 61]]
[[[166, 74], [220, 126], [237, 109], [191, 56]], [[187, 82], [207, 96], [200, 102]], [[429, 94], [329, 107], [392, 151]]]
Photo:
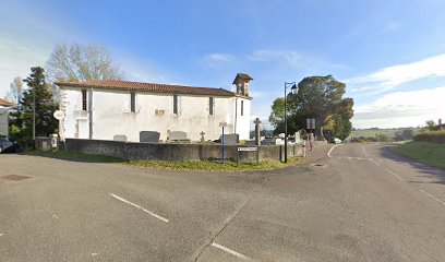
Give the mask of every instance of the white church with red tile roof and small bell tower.
[[157, 131], [166, 141], [168, 133], [183, 131], [200, 141], [226, 133], [240, 140], [250, 135], [251, 100], [248, 74], [233, 80], [236, 92], [222, 88], [192, 87], [128, 81], [58, 82], [62, 139], [116, 140], [139, 142], [141, 131]]

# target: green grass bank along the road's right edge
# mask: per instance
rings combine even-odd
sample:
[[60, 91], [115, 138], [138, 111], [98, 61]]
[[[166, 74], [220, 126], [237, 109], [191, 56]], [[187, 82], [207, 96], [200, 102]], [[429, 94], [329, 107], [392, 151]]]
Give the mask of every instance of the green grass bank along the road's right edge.
[[445, 144], [411, 141], [388, 147], [388, 150], [416, 162], [445, 170]]

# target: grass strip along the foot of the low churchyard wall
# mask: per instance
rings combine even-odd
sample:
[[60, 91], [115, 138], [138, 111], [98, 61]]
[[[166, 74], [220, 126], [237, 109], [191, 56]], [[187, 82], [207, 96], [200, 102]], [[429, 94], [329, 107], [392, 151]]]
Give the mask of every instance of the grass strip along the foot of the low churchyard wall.
[[69, 159], [69, 160], [83, 160], [83, 162], [99, 162], [99, 163], [117, 163], [127, 166], [145, 167], [152, 169], [164, 170], [205, 170], [205, 171], [249, 171], [249, 170], [273, 170], [285, 168], [288, 166], [294, 166], [302, 162], [301, 158], [290, 158], [287, 164], [280, 162], [261, 162], [261, 163], [234, 163], [226, 162], [163, 162], [163, 160], [123, 160], [116, 157], [104, 155], [91, 155], [74, 152], [41, 152], [32, 151], [23, 153], [26, 155], [37, 155], [44, 157]]

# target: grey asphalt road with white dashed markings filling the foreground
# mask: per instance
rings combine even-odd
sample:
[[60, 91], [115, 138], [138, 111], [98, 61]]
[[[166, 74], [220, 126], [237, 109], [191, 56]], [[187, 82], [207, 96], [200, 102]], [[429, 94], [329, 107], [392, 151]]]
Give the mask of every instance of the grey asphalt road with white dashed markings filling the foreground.
[[159, 171], [0, 155], [0, 261], [445, 261], [445, 174], [383, 145]]

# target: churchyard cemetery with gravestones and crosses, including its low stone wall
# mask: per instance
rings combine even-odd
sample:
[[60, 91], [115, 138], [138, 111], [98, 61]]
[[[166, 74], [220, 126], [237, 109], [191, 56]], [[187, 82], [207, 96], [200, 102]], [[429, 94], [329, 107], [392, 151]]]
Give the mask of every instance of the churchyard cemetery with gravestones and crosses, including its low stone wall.
[[[166, 141], [156, 131], [141, 131], [140, 142], [129, 142], [124, 135], [113, 141], [67, 139], [64, 150], [84, 154], [97, 154], [122, 159], [193, 162], [222, 158], [231, 162], [284, 160], [285, 146], [281, 138], [261, 138], [260, 120], [255, 121], [255, 139], [241, 141], [238, 134], [224, 134], [216, 141], [206, 140], [201, 132], [200, 141], [191, 141], [183, 131], [169, 131]], [[293, 135], [292, 135], [293, 136]], [[222, 144], [224, 142], [224, 144]], [[289, 157], [302, 156], [303, 146], [297, 133], [287, 146]]]

